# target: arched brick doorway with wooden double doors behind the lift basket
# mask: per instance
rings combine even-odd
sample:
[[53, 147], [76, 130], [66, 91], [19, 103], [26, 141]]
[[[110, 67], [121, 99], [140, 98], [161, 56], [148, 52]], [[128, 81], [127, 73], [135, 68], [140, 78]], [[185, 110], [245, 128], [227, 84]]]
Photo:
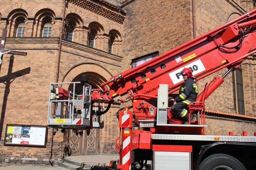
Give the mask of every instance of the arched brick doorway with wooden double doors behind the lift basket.
[[[97, 68], [91, 69], [92, 67]], [[110, 74], [99, 65], [82, 64], [72, 68], [69, 73], [67, 73], [67, 76], [64, 78], [63, 82], [79, 82], [81, 75], [88, 76], [88, 83], [92, 86], [92, 88], [100, 88], [100, 84], [106, 81], [105, 77], [110, 77]], [[71, 79], [71, 76], [73, 79]], [[76, 93], [82, 94], [82, 92], [82, 85], [81, 87], [76, 86]], [[99, 154], [100, 129], [92, 128], [90, 129], [90, 133], [88, 135], [86, 130], [82, 130], [80, 133], [74, 133], [73, 130], [70, 129], [68, 133], [69, 149], [71, 150], [71, 155]]]

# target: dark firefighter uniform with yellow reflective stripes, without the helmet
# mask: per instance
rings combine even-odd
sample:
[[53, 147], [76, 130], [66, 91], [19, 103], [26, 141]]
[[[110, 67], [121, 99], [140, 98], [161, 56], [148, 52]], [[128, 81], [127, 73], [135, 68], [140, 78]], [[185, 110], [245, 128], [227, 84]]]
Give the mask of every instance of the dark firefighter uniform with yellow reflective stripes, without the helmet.
[[176, 104], [171, 107], [174, 114], [179, 115], [188, 121], [188, 111], [185, 109], [191, 102], [195, 102], [198, 94], [194, 77], [188, 78], [181, 84], [179, 95], [174, 98]]

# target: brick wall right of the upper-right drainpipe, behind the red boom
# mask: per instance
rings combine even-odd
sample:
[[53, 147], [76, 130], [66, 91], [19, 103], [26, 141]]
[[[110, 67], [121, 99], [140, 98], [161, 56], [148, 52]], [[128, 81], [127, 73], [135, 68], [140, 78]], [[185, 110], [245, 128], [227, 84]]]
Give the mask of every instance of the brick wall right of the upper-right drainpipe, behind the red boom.
[[[245, 10], [252, 10], [251, 1], [195, 1], [196, 8], [196, 28], [197, 36], [202, 35], [218, 26], [225, 24], [227, 21], [230, 21], [234, 18], [239, 17], [238, 14], [242, 15], [245, 13]], [[251, 3], [249, 3], [251, 2]], [[216, 5], [217, 4], [217, 5]], [[218, 5], [221, 4], [221, 5]], [[232, 5], [231, 5], [232, 4]], [[242, 9], [246, 5], [246, 9]], [[248, 12], [248, 11], [247, 11]], [[233, 13], [233, 14], [232, 14]], [[232, 14], [230, 16], [230, 14]], [[214, 57], [214, 56], [212, 56]], [[250, 61], [245, 60], [243, 63], [249, 62], [250, 64], [244, 67], [250, 67], [252, 70], [255, 70], [255, 65]], [[248, 69], [243, 68], [244, 76], [244, 93], [246, 96], [246, 113], [248, 115], [255, 114], [255, 104], [251, 101], [255, 101], [255, 96], [248, 94], [248, 87], [254, 86], [254, 79], [247, 78], [247, 75], [250, 74]], [[216, 72], [207, 78], [199, 81], [199, 91], [203, 89], [204, 84], [212, 80], [214, 76], [222, 76], [227, 69]], [[232, 75], [231, 73], [225, 78], [224, 83], [213, 92], [213, 94], [206, 100], [206, 105], [208, 110], [218, 110], [220, 112], [226, 113], [235, 113], [233, 104], [233, 87], [232, 87]], [[253, 111], [254, 110], [254, 111]]]

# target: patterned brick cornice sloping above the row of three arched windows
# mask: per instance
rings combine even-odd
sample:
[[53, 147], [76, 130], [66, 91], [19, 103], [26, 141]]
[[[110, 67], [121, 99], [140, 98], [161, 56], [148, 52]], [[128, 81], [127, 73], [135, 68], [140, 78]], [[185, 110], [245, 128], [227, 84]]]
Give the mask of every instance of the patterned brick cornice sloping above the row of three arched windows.
[[[103, 1], [96, 1], [98, 3], [103, 3]], [[123, 24], [124, 19], [125, 19], [125, 12], [118, 7], [115, 7], [114, 5], [110, 5], [109, 3], [103, 3], [105, 5], [111, 6], [113, 8], [113, 11], [110, 11], [103, 6], [100, 6], [96, 3], [89, 2], [86, 0], [70, 0], [70, 3], [73, 3], [79, 7], [84, 8], [85, 10], [91, 11], [95, 14], [101, 15], [105, 18], [108, 18], [112, 21], [115, 21], [119, 24]], [[114, 12], [116, 11], [116, 12]]]

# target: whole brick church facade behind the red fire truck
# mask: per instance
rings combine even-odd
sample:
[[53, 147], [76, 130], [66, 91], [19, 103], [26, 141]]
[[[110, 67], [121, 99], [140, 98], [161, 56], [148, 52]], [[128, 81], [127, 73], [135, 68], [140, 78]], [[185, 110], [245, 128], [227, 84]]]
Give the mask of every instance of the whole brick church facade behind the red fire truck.
[[[50, 150], [53, 160], [61, 157], [62, 141], [72, 155], [116, 154], [116, 111], [122, 107], [114, 103], [104, 114], [104, 128], [94, 129], [90, 136], [67, 131], [52, 136], [49, 129], [46, 148], [4, 145], [6, 124], [47, 125], [49, 83], [79, 81], [85, 74], [99, 88], [113, 75], [131, 68], [134, 59], [162, 54], [193, 39], [193, 27], [196, 36], [202, 35], [252, 10], [255, 4], [252, 0], [195, 0], [194, 17], [192, 0], [69, 0], [65, 7], [63, 0], [0, 0], [0, 6], [0, 29], [8, 30], [5, 48], [27, 52], [27, 56], [3, 55], [0, 161], [15, 157], [16, 161], [27, 158], [48, 163]], [[207, 134], [256, 132], [255, 64], [255, 57], [242, 64], [243, 114], [236, 107], [232, 75], [207, 99]], [[225, 72], [200, 80], [199, 91]]]

